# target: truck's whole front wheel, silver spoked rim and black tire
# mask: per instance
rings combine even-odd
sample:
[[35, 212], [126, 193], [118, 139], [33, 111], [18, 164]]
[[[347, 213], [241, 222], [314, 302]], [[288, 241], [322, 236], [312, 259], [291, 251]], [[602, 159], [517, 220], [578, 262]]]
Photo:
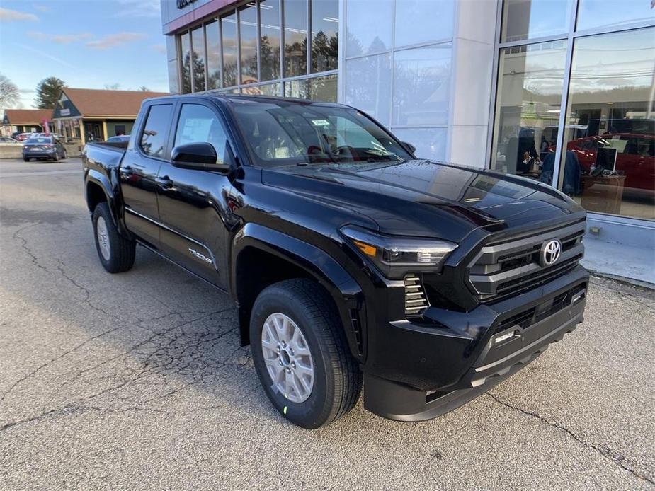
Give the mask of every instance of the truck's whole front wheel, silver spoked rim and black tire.
[[250, 340], [266, 395], [292, 423], [326, 426], [357, 402], [358, 364], [334, 302], [316, 282], [289, 279], [264, 289], [253, 306]]

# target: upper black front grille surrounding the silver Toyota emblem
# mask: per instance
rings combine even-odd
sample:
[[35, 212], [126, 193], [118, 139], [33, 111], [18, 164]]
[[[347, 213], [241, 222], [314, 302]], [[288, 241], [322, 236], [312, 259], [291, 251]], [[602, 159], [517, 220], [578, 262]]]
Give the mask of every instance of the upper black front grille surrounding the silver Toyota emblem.
[[[485, 245], [469, 268], [469, 280], [479, 301], [498, 300], [552, 282], [574, 270], [583, 257], [584, 221], [514, 240]], [[540, 264], [542, 245], [554, 238], [562, 254], [552, 266]]]

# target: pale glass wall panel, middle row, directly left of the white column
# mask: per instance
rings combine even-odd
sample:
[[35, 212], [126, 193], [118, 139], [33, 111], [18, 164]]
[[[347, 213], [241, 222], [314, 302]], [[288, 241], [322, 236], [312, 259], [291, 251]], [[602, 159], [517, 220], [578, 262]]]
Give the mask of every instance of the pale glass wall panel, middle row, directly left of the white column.
[[450, 98], [450, 43], [394, 54], [394, 125], [445, 125]]

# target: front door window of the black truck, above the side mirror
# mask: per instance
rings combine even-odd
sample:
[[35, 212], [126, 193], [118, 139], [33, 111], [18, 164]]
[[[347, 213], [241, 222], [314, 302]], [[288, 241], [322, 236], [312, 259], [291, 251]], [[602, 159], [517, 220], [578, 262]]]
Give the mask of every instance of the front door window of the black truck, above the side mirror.
[[217, 154], [217, 163], [223, 162], [227, 135], [218, 117], [210, 108], [199, 104], [184, 104], [175, 134], [175, 146], [207, 142]]

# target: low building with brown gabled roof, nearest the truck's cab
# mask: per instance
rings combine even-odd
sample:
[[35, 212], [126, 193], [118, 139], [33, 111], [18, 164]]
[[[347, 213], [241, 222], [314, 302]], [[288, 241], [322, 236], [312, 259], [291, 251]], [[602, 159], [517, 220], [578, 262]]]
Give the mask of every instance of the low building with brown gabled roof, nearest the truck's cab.
[[84, 145], [120, 134], [130, 134], [144, 99], [164, 92], [111, 91], [91, 88], [62, 90], [52, 115], [54, 129], [65, 141]]

